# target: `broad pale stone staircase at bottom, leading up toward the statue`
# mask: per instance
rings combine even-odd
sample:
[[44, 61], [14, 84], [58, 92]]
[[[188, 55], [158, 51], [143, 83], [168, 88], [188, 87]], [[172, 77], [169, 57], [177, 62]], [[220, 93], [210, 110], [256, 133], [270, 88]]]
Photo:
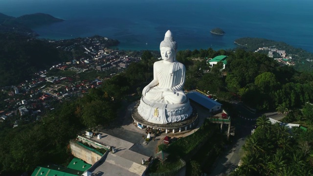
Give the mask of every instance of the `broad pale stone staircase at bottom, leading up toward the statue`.
[[135, 163], [133, 161], [130, 161], [128, 159], [125, 159], [123, 157], [117, 156], [115, 154], [109, 153], [105, 162], [114, 164], [115, 166], [119, 166], [123, 169], [126, 169], [134, 174], [137, 174], [139, 176], [142, 176], [144, 171], [146, 170], [146, 167]]

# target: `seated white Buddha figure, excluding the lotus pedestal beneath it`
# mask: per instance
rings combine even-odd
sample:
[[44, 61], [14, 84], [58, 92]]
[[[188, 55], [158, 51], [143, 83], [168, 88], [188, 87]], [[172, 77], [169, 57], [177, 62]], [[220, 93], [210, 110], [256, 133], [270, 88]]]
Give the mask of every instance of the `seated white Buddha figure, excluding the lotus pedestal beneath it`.
[[142, 90], [142, 95], [151, 102], [181, 104], [185, 102], [183, 92], [185, 66], [176, 61], [177, 44], [168, 30], [160, 44], [162, 60], [153, 65], [153, 80]]

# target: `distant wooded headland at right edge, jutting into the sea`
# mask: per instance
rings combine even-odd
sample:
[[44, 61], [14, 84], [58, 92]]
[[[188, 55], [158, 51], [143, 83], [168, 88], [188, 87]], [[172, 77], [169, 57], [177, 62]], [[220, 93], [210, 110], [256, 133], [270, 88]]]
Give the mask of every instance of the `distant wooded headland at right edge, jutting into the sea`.
[[240, 44], [241, 46], [244, 47], [244, 49], [252, 52], [257, 50], [259, 47], [269, 47], [269, 46], [275, 47], [277, 49], [286, 50], [287, 56], [291, 56], [292, 60], [295, 62], [296, 65], [294, 66], [294, 68], [296, 70], [313, 71], [312, 68], [313, 54], [301, 48], [295, 48], [284, 42], [249, 37], [237, 39], [235, 40], [235, 43]]

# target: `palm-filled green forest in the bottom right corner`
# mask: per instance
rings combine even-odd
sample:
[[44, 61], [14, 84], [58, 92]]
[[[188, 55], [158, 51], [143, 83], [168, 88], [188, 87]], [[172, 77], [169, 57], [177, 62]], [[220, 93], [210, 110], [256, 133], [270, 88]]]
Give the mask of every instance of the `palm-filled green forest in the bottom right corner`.
[[242, 164], [231, 176], [313, 175], [312, 131], [271, 124], [266, 116], [256, 125], [243, 146]]

